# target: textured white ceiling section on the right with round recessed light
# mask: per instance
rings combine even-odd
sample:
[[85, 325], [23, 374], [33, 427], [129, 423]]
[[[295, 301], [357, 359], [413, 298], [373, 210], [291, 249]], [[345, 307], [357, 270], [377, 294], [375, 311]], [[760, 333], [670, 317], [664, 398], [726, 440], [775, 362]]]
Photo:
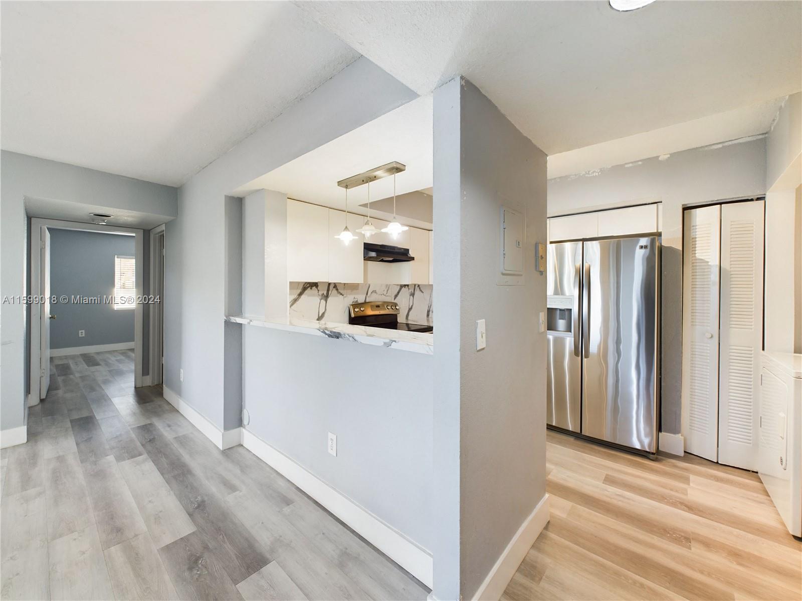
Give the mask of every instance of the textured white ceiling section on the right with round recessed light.
[[549, 155], [802, 88], [800, 2], [297, 4], [419, 93], [464, 75]]

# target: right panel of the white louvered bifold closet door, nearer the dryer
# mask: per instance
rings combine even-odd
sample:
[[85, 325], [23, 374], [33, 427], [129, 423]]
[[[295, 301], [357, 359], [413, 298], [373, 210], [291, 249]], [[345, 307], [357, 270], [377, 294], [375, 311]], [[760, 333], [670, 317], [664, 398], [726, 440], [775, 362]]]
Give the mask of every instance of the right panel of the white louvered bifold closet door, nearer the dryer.
[[746, 470], [758, 458], [763, 220], [763, 200], [721, 208], [719, 463]]

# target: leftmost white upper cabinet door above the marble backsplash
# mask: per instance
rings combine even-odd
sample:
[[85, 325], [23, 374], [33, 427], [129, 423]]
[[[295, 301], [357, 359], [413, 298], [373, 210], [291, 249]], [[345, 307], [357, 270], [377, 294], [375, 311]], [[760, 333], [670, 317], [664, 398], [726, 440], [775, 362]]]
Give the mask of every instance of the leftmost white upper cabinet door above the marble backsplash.
[[329, 209], [288, 199], [287, 279], [325, 282], [328, 278]]

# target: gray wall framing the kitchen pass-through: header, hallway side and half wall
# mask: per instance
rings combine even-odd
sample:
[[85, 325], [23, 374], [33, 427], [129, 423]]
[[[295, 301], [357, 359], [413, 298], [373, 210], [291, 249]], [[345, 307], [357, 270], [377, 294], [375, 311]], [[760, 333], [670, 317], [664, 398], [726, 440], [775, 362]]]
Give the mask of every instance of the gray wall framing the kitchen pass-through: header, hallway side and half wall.
[[[180, 188], [179, 218], [165, 228], [164, 385], [225, 430], [240, 425], [233, 381], [243, 374], [249, 430], [425, 546], [431, 518], [419, 499], [433, 492], [420, 455], [431, 457], [431, 372], [425, 366], [431, 357], [223, 319], [227, 308], [242, 302], [242, 282], [226, 268], [243, 266], [233, 256], [243, 213], [226, 195], [412, 99], [407, 87], [360, 58]], [[237, 329], [241, 361], [230, 352]], [[367, 389], [365, 374], [353, 369], [358, 361], [376, 361], [376, 373], [383, 374]], [[386, 374], [399, 382], [414, 374], [420, 385], [386, 391]], [[328, 431], [342, 437], [336, 459], [326, 452]], [[376, 432], [384, 438], [374, 438]], [[407, 454], [380, 451], [388, 438]], [[394, 462], [401, 465], [396, 469]], [[396, 470], [394, 482], [387, 470]]]

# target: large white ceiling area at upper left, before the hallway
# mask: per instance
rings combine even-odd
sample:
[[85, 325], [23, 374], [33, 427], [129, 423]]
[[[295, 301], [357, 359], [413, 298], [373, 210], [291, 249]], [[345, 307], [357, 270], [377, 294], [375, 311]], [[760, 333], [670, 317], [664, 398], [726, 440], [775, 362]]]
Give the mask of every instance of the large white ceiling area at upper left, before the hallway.
[[286, 2], [2, 2], [2, 147], [182, 184], [358, 58]]

